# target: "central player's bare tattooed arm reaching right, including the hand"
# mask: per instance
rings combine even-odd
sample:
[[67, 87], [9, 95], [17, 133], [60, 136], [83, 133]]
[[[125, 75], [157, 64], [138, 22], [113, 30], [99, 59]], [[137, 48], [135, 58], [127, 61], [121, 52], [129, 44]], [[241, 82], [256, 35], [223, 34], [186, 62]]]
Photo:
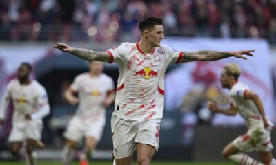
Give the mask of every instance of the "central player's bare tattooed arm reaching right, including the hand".
[[179, 62], [190, 62], [190, 61], [216, 61], [222, 58], [228, 58], [230, 56], [235, 56], [236, 58], [247, 59], [242, 55], [253, 56], [251, 52], [254, 50], [240, 50], [237, 52], [219, 52], [219, 51], [210, 51], [202, 50], [198, 52], [183, 52], [182, 58]]

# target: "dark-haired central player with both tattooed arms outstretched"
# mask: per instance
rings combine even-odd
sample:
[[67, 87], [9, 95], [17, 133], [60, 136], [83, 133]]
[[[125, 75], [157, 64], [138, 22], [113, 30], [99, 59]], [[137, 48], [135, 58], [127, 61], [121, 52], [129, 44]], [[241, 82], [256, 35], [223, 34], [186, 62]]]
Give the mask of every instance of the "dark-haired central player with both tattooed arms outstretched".
[[215, 61], [242, 54], [253, 56], [252, 50], [237, 52], [176, 52], [166, 45], [162, 19], [147, 17], [138, 23], [141, 40], [122, 43], [119, 47], [97, 52], [57, 43], [54, 47], [88, 61], [115, 62], [119, 66], [115, 111], [111, 119], [116, 164], [132, 164], [137, 150], [137, 164], [150, 164], [159, 147], [160, 121], [163, 115], [164, 74], [170, 63]]

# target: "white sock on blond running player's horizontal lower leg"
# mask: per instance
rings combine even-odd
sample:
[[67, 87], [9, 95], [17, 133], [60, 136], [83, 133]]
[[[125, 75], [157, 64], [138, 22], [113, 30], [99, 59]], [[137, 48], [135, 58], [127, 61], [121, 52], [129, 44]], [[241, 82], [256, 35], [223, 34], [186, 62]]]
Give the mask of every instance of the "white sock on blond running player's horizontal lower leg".
[[236, 154], [230, 155], [228, 159], [230, 159], [230, 161], [232, 162], [235, 162], [241, 165], [251, 165], [251, 164], [264, 165], [261, 162], [257, 162], [257, 160], [253, 159], [252, 157], [248, 156], [245, 153], [236, 153]]

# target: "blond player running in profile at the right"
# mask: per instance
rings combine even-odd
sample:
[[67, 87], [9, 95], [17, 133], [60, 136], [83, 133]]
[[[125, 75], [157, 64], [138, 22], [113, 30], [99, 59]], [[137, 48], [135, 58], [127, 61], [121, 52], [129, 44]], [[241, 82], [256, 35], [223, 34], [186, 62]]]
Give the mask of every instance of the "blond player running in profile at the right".
[[[234, 63], [226, 65], [220, 76], [220, 83], [223, 88], [230, 89], [230, 107], [220, 109], [216, 102], [208, 102], [207, 107], [215, 113], [225, 115], [242, 115], [248, 127], [244, 135], [240, 135], [233, 142], [230, 142], [222, 151], [224, 158], [237, 164], [276, 164], [271, 155], [273, 145], [270, 141], [270, 122], [264, 113], [259, 96], [248, 88], [244, 83], [238, 81], [241, 69]], [[262, 162], [249, 157], [239, 151], [257, 151]]]

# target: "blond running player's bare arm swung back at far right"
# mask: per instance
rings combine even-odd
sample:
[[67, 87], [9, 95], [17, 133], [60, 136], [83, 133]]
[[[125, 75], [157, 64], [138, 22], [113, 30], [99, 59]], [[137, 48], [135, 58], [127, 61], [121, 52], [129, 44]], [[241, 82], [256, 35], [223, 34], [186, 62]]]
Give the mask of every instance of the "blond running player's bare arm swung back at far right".
[[253, 91], [246, 90], [246, 91], [244, 91], [244, 99], [250, 99], [255, 103], [259, 113], [262, 115], [262, 119], [264, 121], [264, 126], [265, 127], [270, 126], [268, 124], [268, 120], [266, 119], [266, 113], [264, 112], [264, 106], [263, 106], [262, 101], [259, 98], [258, 94], [256, 94]]

